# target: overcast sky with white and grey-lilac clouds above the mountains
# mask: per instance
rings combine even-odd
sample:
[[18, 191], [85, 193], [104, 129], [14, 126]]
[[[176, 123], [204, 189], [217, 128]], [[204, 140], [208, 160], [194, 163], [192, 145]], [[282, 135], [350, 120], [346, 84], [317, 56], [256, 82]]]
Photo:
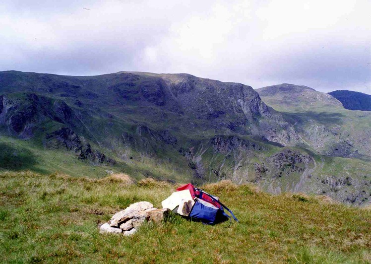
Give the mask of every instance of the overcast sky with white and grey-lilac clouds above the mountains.
[[371, 0], [3, 0], [0, 70], [371, 93]]

